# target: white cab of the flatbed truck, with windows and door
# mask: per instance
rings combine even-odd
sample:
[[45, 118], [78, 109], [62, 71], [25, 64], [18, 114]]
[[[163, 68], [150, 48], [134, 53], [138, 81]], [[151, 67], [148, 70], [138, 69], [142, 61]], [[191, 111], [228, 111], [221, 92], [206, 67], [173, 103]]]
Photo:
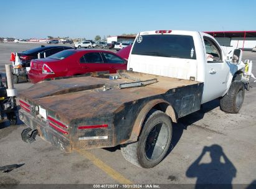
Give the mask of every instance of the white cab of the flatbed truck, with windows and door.
[[229, 57], [204, 32], [154, 30], [137, 35], [128, 70], [204, 82], [203, 104], [224, 96], [235, 73], [244, 68]]

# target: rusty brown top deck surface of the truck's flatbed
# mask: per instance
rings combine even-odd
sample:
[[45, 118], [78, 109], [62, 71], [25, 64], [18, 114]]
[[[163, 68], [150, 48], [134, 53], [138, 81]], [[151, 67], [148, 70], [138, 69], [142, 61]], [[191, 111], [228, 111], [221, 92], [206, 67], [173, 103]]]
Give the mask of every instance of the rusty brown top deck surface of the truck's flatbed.
[[[179, 80], [164, 76], [148, 75], [143, 73], [126, 72], [126, 76], [137, 78], [141, 81], [156, 78], [157, 83], [147, 86], [118, 89], [120, 83], [135, 82], [128, 78], [118, 78], [110, 80], [102, 76], [85, 76], [69, 78], [64, 80], [43, 81], [32, 86], [26, 91], [22, 91], [21, 98], [33, 101], [45, 108], [71, 119], [90, 118], [95, 114], [113, 113], [123, 103], [136, 101], [164, 94], [169, 90], [181, 88], [183, 86], [195, 85], [199, 82], [189, 80]], [[115, 87], [111, 90], [103, 91], [103, 86]], [[83, 108], [90, 111], [83, 111]], [[85, 110], [84, 109], [84, 110]]]

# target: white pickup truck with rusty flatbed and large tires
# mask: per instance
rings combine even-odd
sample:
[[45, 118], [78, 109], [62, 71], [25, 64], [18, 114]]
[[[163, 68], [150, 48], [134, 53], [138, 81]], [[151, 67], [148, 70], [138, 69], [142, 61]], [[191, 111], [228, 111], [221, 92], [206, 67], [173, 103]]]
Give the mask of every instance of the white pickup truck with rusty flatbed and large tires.
[[216, 98], [223, 111], [239, 112], [241, 58], [203, 32], [140, 32], [128, 70], [43, 81], [20, 93], [19, 116], [29, 126], [22, 140], [38, 133], [68, 151], [121, 145], [126, 160], [154, 167], [168, 152], [172, 122]]

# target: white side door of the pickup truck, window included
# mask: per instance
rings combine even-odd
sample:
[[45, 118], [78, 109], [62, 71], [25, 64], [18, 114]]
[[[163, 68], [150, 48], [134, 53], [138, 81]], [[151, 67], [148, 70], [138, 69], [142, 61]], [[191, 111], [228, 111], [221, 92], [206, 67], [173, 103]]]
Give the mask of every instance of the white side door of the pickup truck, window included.
[[224, 60], [220, 46], [211, 37], [203, 36], [206, 52], [206, 73], [202, 103], [219, 98], [227, 89], [230, 68]]

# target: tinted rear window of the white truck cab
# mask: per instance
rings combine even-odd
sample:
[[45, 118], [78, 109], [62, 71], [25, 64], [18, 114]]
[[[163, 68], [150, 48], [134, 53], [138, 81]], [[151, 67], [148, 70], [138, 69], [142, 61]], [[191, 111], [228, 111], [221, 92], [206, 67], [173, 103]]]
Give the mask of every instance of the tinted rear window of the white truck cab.
[[196, 59], [194, 40], [189, 35], [141, 35], [135, 40], [133, 55]]

